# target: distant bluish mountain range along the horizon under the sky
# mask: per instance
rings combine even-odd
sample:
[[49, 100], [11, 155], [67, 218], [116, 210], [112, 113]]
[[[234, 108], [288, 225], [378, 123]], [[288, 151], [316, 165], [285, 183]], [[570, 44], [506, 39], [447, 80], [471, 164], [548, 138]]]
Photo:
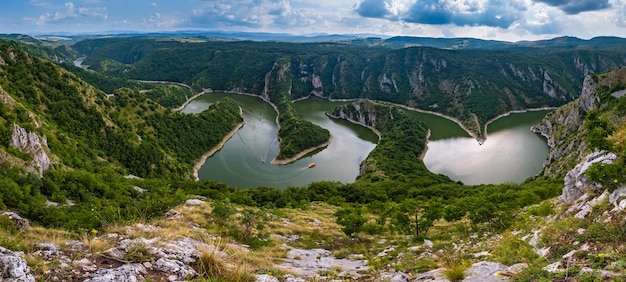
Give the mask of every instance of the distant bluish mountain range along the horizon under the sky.
[[577, 37], [563, 36], [546, 40], [536, 41], [499, 41], [486, 40], [471, 37], [456, 38], [435, 38], [435, 37], [414, 37], [414, 36], [383, 36], [376, 34], [309, 34], [294, 35], [288, 33], [269, 32], [241, 32], [241, 31], [195, 31], [181, 30], [171, 32], [132, 32], [132, 31], [109, 31], [91, 34], [73, 33], [53, 33], [37, 36], [22, 34], [0, 34], [0, 38], [16, 39], [20, 41], [45, 43], [63, 42], [71, 44], [87, 38], [100, 37], [169, 37], [169, 38], [203, 38], [212, 40], [232, 40], [232, 41], [273, 41], [290, 43], [320, 43], [320, 42], [340, 42], [345, 44], [382, 46], [389, 48], [406, 47], [433, 47], [441, 49], [512, 49], [512, 48], [564, 48], [564, 49], [602, 49], [626, 45], [626, 38], [600, 36], [591, 39], [580, 39]]

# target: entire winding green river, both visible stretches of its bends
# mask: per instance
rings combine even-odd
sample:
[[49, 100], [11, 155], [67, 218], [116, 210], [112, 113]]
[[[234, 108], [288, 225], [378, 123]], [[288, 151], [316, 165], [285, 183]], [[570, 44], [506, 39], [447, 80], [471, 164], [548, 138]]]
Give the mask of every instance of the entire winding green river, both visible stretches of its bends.
[[[212, 179], [237, 187], [304, 186], [315, 181], [353, 182], [359, 164], [376, 146], [378, 137], [369, 129], [324, 113], [346, 102], [311, 98], [296, 102], [307, 120], [328, 129], [331, 144], [288, 165], [271, 165], [278, 153], [276, 113], [256, 97], [209, 93], [187, 105], [182, 112], [199, 113], [215, 101], [230, 97], [243, 109], [245, 125], [224, 147], [207, 159], [198, 171], [200, 179]], [[511, 114], [489, 126], [489, 137], [480, 146], [456, 123], [430, 114], [415, 113], [431, 128], [426, 166], [466, 184], [521, 182], [541, 169], [548, 148], [545, 140], [530, 132], [547, 111]], [[308, 168], [312, 162], [313, 168]]]

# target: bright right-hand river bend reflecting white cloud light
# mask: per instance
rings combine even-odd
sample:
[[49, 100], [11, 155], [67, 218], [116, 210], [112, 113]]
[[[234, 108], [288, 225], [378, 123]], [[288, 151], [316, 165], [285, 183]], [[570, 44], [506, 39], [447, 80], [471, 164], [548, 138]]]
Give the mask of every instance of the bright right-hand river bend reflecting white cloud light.
[[545, 140], [530, 132], [530, 126], [546, 113], [501, 118], [500, 124], [493, 126], [498, 131], [490, 133], [483, 145], [473, 138], [431, 141], [424, 163], [430, 171], [465, 184], [520, 183], [539, 173], [548, 155]]

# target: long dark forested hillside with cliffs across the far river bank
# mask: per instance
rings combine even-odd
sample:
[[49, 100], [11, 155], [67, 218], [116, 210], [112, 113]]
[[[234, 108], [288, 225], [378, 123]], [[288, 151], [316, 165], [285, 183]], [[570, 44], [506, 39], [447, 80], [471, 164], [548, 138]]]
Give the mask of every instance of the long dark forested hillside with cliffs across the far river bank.
[[72, 47], [98, 72], [256, 95], [267, 87], [272, 66], [287, 59], [293, 99], [313, 94], [405, 104], [457, 118], [480, 136], [485, 122], [499, 114], [563, 105], [580, 93], [585, 75], [625, 65], [619, 41], [597, 43], [609, 39], [594, 41], [595, 48], [568, 48], [555, 40], [510, 49], [444, 50], [135, 37], [84, 40]]

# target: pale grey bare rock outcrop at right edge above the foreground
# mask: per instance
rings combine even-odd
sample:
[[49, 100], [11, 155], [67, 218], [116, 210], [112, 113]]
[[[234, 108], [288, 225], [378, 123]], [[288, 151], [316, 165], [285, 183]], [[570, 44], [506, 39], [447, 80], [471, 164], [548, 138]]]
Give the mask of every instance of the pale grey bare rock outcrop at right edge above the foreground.
[[581, 163], [577, 164], [570, 170], [564, 179], [563, 192], [559, 196], [559, 201], [564, 203], [572, 203], [580, 198], [587, 190], [600, 190], [602, 186], [597, 183], [591, 183], [587, 180], [585, 172], [594, 163], [612, 163], [617, 159], [614, 153], [594, 152]]

